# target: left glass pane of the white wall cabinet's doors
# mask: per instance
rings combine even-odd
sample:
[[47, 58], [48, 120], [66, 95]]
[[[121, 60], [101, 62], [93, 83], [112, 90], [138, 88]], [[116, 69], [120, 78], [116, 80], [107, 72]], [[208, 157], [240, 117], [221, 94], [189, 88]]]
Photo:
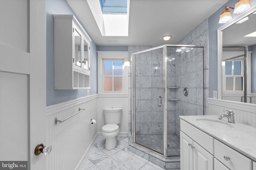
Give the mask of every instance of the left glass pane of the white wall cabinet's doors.
[[74, 30], [75, 33], [75, 65], [82, 69], [82, 55], [81, 55], [81, 34], [78, 30]]

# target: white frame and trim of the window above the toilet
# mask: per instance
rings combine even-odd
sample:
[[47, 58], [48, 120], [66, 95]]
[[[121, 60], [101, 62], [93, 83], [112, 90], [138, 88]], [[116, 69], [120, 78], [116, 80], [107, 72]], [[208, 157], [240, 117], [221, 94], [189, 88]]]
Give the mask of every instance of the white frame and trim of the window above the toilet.
[[[97, 51], [98, 53], [98, 94], [128, 94], [128, 51]], [[104, 61], [123, 61], [122, 92], [104, 92]], [[112, 75], [113, 76], [113, 75]], [[113, 84], [114, 86], [114, 84]]]

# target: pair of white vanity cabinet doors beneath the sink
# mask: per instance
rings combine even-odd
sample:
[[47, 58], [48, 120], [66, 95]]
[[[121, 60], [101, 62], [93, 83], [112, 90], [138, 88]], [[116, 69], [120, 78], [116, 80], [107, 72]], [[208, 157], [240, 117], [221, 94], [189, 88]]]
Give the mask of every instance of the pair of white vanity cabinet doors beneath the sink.
[[190, 137], [180, 132], [180, 168], [181, 170], [213, 170], [213, 158]]

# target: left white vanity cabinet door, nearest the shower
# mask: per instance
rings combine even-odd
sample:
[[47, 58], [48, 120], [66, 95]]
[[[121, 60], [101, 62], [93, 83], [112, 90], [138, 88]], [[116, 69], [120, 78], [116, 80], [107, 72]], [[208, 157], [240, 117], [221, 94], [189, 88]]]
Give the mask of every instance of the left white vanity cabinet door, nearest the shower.
[[193, 140], [180, 131], [180, 170], [193, 170]]

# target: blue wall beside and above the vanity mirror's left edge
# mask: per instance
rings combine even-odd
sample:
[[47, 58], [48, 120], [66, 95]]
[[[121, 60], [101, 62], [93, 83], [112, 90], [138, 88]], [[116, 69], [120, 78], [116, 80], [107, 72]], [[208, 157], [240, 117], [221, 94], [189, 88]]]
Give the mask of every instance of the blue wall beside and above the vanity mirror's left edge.
[[[237, 0], [229, 0], [224, 6], [234, 7]], [[256, 0], [251, 0], [250, 5], [255, 6]], [[218, 49], [217, 49], [217, 29], [224, 25], [223, 23], [218, 23], [220, 19], [220, 14], [224, 9], [222, 6], [217, 10], [212, 16], [208, 18], [209, 24], [209, 98], [213, 98], [213, 91], [218, 90]], [[232, 18], [236, 18], [233, 14], [234, 10], [230, 10]]]

